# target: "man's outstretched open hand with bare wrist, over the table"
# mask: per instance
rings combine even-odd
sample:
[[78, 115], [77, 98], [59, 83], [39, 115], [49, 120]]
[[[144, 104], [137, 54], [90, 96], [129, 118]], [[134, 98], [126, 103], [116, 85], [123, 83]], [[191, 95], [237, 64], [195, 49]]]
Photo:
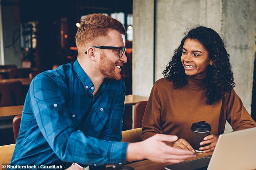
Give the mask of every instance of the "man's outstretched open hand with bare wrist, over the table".
[[196, 155], [189, 150], [171, 147], [165, 142], [174, 142], [177, 136], [156, 134], [145, 141], [129, 143], [127, 147], [126, 160], [149, 159], [153, 162], [176, 164]]

